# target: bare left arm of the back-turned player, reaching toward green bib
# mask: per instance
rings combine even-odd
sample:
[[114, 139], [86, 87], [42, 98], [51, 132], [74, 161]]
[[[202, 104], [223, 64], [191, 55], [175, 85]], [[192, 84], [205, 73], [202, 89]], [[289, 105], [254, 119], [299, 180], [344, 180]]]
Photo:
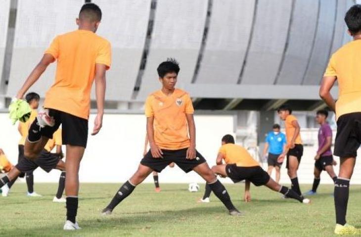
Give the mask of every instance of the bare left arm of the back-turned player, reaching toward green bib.
[[16, 98], [23, 98], [24, 94], [29, 90], [29, 88], [42, 76], [47, 66], [49, 66], [49, 64], [54, 61], [55, 58], [51, 54], [45, 53], [38, 65], [34, 68], [29, 77], [24, 82], [23, 86], [17, 93]]

